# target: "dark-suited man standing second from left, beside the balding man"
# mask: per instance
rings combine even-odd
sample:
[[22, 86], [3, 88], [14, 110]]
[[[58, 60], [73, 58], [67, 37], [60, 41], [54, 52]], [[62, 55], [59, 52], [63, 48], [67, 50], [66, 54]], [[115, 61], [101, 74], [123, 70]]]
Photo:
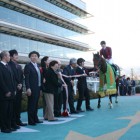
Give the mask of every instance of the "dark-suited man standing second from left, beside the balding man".
[[13, 71], [16, 83], [16, 96], [14, 100], [14, 120], [15, 123], [19, 126], [26, 126], [26, 123], [22, 123], [20, 120], [21, 113], [21, 100], [22, 100], [22, 85], [23, 85], [23, 70], [21, 65], [17, 63], [18, 61], [18, 52], [16, 50], [10, 50], [10, 62], [9, 65]]

